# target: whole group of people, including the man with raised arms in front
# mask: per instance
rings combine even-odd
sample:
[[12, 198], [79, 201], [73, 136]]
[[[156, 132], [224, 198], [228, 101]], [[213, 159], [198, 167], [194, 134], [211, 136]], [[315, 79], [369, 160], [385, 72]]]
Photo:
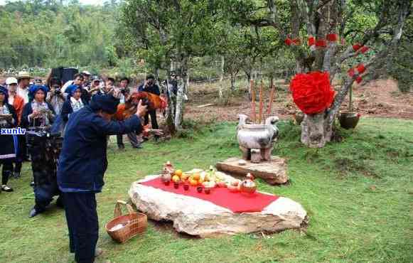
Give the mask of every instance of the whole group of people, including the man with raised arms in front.
[[[63, 83], [52, 72], [45, 82], [31, 82], [28, 73], [20, 72], [0, 83], [0, 192], [14, 191], [9, 178], [20, 178], [22, 163], [30, 161], [35, 204], [29, 217], [43, 213], [57, 196], [56, 205], [65, 209], [70, 252], [76, 262], [94, 262], [99, 254], [95, 194], [104, 185], [109, 136], [117, 135], [117, 145], [124, 149], [127, 134], [132, 147], [139, 149], [147, 139], [142, 131], [156, 140], [162, 135], [156, 111], [148, 110], [146, 102], [136, 102], [132, 117], [114, 121], [118, 105], [130, 102], [133, 92], [159, 96], [161, 90], [154, 75], [131, 88], [127, 77], [117, 82], [82, 72]], [[176, 95], [176, 75], [169, 83], [165, 93]], [[152, 129], [146, 128], [149, 118]]]

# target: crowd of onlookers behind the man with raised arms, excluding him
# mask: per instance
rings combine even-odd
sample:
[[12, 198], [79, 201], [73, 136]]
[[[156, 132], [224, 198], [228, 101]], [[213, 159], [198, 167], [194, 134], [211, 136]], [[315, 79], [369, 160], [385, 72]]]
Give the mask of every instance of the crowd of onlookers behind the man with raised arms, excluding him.
[[[169, 82], [176, 94], [175, 74], [171, 75]], [[13, 192], [9, 178], [19, 178], [23, 161], [31, 161], [31, 186], [36, 193], [36, 205], [31, 210], [31, 216], [43, 212], [53, 196], [45, 193], [58, 193], [56, 186], [50, 186], [55, 182], [53, 178], [59, 157], [53, 151], [60, 151], [71, 114], [90, 104], [93, 96], [113, 95], [117, 92], [119, 102], [122, 103], [134, 91], [161, 95], [154, 75], [147, 75], [144, 83], [136, 88], [129, 87], [130, 84], [128, 77], [122, 77], [118, 82], [113, 77], [102, 80], [87, 71], [75, 74], [73, 80], [65, 83], [58, 77], [53, 77], [51, 72], [45, 81], [33, 80], [27, 72], [19, 72], [16, 77], [8, 77], [5, 83], [0, 83], [0, 128], [26, 129], [26, 134], [0, 136], [0, 144], [4, 145], [0, 150], [0, 192]], [[152, 129], [158, 129], [155, 110], [145, 114], [144, 125], [149, 124], [149, 119]], [[135, 131], [129, 132], [127, 137], [135, 149], [141, 149], [141, 144], [147, 140]], [[154, 136], [154, 139], [159, 139], [159, 136]], [[117, 134], [117, 146], [124, 149], [122, 134]], [[46, 180], [47, 178], [50, 180]], [[42, 189], [45, 185], [50, 189]]]

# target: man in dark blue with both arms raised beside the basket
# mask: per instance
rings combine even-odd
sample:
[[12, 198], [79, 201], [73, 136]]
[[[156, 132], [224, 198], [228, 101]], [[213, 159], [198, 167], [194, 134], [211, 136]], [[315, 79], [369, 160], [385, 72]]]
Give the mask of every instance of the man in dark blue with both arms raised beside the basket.
[[110, 118], [119, 100], [95, 95], [90, 105], [70, 116], [58, 166], [58, 186], [63, 192], [68, 221], [70, 252], [76, 262], [94, 262], [99, 232], [95, 194], [102, 190], [107, 168], [107, 136], [142, 130], [140, 117], [146, 106], [139, 102], [136, 114], [124, 122]]

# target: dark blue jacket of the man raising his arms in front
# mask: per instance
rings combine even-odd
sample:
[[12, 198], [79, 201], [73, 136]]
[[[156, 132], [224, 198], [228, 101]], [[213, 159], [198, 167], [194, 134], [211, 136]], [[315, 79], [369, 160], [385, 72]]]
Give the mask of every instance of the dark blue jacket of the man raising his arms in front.
[[135, 115], [124, 122], [107, 121], [85, 106], [70, 116], [58, 166], [58, 186], [100, 190], [107, 168], [107, 136], [141, 132]]

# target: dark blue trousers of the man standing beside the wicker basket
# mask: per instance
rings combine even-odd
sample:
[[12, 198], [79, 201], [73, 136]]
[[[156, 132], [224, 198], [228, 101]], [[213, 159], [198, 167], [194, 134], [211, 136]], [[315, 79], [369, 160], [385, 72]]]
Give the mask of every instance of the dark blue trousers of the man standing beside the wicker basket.
[[63, 201], [68, 221], [70, 252], [75, 253], [77, 263], [94, 262], [99, 237], [95, 193], [63, 193]]

